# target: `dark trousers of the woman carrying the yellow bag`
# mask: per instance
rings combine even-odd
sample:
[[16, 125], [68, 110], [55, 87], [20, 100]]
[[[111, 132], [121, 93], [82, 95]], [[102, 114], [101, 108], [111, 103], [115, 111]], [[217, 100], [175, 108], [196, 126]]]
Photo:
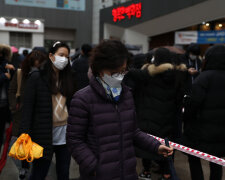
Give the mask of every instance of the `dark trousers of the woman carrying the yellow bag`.
[[[56, 173], [58, 180], [69, 180], [69, 168], [71, 155], [66, 145], [54, 146], [56, 156]], [[29, 180], [45, 180], [48, 174], [51, 160], [37, 159], [32, 163], [31, 176]]]

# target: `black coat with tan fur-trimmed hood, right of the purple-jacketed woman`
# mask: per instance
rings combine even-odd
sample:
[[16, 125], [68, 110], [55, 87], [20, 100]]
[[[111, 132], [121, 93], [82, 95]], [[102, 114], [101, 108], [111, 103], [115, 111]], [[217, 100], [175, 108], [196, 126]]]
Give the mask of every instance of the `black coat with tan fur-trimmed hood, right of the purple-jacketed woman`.
[[174, 66], [170, 63], [159, 66], [145, 64], [141, 71], [134, 70], [127, 74], [125, 81], [133, 81], [138, 126], [141, 130], [160, 137], [173, 134], [186, 75], [184, 64]]

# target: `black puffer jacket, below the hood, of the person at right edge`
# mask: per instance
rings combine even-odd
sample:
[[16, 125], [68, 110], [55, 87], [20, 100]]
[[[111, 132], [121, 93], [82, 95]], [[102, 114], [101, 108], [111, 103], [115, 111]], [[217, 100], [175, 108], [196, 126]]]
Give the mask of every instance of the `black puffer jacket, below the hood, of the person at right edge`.
[[225, 69], [203, 71], [194, 81], [184, 144], [225, 156]]

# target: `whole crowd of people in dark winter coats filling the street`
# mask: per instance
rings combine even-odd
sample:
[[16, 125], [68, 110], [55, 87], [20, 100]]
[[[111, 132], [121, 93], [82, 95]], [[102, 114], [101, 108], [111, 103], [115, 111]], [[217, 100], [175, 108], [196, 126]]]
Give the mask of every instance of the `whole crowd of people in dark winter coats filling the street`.
[[[184, 54], [159, 47], [133, 55], [116, 40], [84, 44], [72, 57], [59, 41], [23, 59], [12, 50], [0, 45], [0, 147], [8, 122], [10, 147], [27, 133], [44, 148], [32, 165], [14, 159], [19, 179], [44, 180], [53, 154], [59, 180], [69, 179], [71, 157], [81, 180], [151, 180], [153, 162], [160, 180], [172, 179], [173, 148], [148, 134], [225, 155], [224, 45], [203, 58], [197, 44]], [[200, 159], [188, 160], [192, 180], [203, 180]], [[210, 163], [210, 180], [221, 179], [222, 167]]]

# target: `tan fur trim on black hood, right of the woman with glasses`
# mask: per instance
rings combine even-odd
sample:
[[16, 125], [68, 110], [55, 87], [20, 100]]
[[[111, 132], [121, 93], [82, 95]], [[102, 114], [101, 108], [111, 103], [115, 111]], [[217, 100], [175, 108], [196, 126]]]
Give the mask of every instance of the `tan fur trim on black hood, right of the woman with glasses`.
[[169, 70], [187, 71], [187, 67], [185, 64], [173, 65], [170, 63], [161, 64], [159, 66], [156, 66], [154, 64], [145, 64], [141, 69], [147, 69], [148, 73], [151, 76], [155, 76]]

